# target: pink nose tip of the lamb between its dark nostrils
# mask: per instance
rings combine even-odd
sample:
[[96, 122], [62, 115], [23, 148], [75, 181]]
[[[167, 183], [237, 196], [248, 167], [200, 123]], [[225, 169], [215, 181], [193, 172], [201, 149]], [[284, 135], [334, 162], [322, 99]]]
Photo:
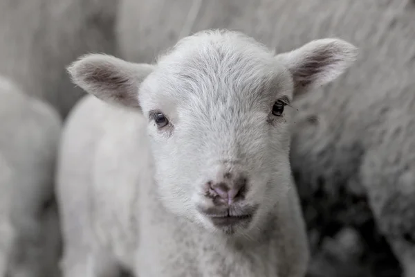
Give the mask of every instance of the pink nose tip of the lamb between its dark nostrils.
[[245, 177], [237, 177], [235, 179], [225, 177], [216, 183], [208, 182], [208, 186], [214, 197], [220, 197], [226, 204], [232, 204], [245, 197], [246, 182]]

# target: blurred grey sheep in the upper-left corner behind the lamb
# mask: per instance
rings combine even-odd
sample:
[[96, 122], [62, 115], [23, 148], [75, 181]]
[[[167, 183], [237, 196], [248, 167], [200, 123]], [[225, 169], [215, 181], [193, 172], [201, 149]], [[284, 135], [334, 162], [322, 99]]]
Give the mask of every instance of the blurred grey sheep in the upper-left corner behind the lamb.
[[0, 74], [62, 118], [84, 94], [65, 66], [90, 51], [116, 53], [118, 0], [0, 1]]

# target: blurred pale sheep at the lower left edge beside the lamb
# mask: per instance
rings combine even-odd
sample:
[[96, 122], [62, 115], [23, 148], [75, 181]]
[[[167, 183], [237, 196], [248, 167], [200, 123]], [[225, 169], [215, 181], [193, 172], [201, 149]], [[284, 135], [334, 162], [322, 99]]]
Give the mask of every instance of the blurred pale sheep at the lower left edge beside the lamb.
[[0, 76], [0, 276], [59, 276], [59, 114]]

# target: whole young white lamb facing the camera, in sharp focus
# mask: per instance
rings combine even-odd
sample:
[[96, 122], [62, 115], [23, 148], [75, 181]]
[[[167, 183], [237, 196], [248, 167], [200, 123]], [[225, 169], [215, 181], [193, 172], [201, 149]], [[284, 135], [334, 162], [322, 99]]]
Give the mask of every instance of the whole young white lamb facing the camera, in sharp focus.
[[91, 96], [59, 150], [64, 277], [305, 276], [291, 103], [356, 55], [342, 39], [275, 55], [243, 33], [205, 30], [156, 64], [73, 62]]

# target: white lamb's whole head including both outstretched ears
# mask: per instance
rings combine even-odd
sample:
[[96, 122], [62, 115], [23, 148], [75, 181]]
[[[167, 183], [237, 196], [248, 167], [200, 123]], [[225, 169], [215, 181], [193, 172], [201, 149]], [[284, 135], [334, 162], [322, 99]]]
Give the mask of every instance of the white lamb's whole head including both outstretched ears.
[[153, 65], [91, 54], [68, 71], [85, 91], [147, 118], [169, 211], [241, 234], [260, 229], [292, 185], [290, 103], [337, 78], [355, 56], [340, 39], [274, 55], [250, 37], [218, 30], [182, 39]]

